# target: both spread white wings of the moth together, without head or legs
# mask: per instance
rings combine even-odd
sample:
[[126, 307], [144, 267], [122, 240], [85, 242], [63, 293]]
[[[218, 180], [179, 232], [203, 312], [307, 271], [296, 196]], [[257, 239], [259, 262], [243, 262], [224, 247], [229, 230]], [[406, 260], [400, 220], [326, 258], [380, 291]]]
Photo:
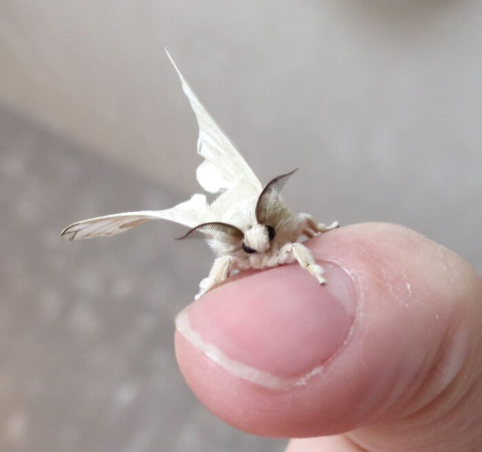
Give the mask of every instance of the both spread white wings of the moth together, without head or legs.
[[196, 177], [203, 189], [210, 193], [220, 193], [220, 196], [214, 200], [212, 207], [207, 204], [205, 195], [196, 194], [190, 200], [163, 211], [125, 212], [85, 219], [67, 226], [62, 231], [62, 235], [67, 239], [108, 237], [143, 224], [148, 219], [167, 219], [193, 228], [207, 219], [219, 220], [226, 206], [232, 206], [247, 197], [258, 196], [262, 191], [260, 181], [202, 106], [174, 63], [167, 47], [166, 52], [198, 121], [198, 153], [205, 160], [198, 166]]

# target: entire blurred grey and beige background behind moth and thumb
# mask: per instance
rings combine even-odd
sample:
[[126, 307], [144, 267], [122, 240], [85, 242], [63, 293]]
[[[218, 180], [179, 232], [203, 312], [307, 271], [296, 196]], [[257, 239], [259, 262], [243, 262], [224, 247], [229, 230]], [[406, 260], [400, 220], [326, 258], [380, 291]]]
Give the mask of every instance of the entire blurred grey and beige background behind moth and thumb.
[[0, 0], [0, 450], [284, 449], [211, 415], [173, 350], [211, 263], [185, 228], [78, 219], [199, 191], [171, 53], [295, 210], [397, 222], [482, 270], [478, 0]]

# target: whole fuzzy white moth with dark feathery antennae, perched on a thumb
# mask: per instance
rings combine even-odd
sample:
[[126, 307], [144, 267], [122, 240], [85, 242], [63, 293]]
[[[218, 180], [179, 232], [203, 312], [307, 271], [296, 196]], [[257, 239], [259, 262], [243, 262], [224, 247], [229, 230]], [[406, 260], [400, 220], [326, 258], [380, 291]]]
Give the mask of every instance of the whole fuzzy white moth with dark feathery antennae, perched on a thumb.
[[280, 191], [294, 171], [275, 177], [263, 188], [229, 138], [202, 106], [167, 48], [166, 52], [198, 120], [198, 153], [205, 160], [198, 166], [196, 177], [205, 191], [218, 193], [218, 197], [208, 204], [205, 195], [196, 194], [190, 200], [163, 211], [116, 213], [85, 219], [67, 226], [62, 235], [70, 240], [109, 236], [143, 224], [148, 219], [167, 219], [189, 226], [191, 230], [180, 239], [206, 239], [216, 254], [209, 276], [200, 282], [196, 299], [235, 270], [272, 268], [295, 261], [306, 268], [319, 284], [325, 284], [323, 268], [297, 239], [302, 235], [314, 237], [336, 228], [337, 222], [325, 226], [315, 222], [310, 215], [291, 213], [280, 197]]

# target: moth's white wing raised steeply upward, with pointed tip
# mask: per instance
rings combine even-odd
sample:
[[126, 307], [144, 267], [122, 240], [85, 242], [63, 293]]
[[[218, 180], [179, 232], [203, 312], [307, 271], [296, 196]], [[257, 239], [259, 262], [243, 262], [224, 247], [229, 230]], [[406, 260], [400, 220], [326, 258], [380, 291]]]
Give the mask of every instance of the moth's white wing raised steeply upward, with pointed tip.
[[234, 186], [239, 186], [241, 183], [241, 198], [259, 195], [262, 185], [258, 177], [255, 176], [233, 143], [224, 135], [221, 128], [211, 118], [202, 103], [200, 103], [198, 96], [193, 92], [180, 73], [176, 63], [174, 63], [167, 47], [166, 52], [179, 75], [182, 90], [189, 99], [198, 121], [198, 153], [205, 158], [205, 161], [198, 166], [196, 171], [200, 185], [210, 193], [219, 193], [220, 191], [227, 191]]

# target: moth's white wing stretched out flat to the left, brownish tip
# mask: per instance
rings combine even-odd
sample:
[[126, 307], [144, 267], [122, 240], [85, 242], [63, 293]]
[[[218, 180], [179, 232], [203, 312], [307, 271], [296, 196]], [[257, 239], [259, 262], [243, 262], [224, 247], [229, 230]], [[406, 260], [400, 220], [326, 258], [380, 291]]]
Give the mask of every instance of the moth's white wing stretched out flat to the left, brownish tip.
[[139, 226], [148, 219], [167, 219], [193, 228], [202, 223], [207, 208], [205, 195], [197, 194], [193, 195], [189, 201], [181, 202], [164, 211], [125, 212], [85, 219], [67, 226], [62, 231], [62, 235], [69, 240], [108, 237]]

